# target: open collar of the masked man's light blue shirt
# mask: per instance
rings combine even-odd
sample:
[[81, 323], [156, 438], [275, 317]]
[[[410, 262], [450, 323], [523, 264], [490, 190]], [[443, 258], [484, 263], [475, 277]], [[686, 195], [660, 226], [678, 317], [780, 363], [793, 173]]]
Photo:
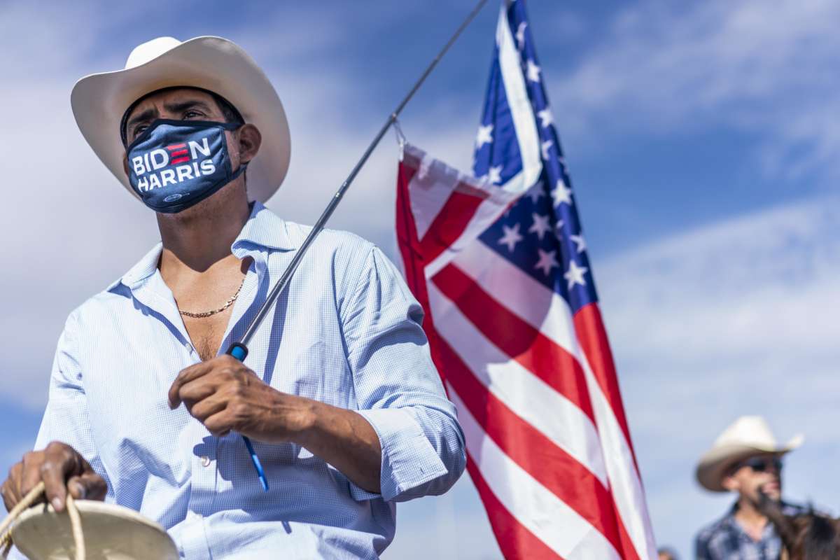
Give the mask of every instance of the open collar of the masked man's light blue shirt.
[[[271, 212], [260, 201], [254, 201], [248, 221], [245, 222], [242, 231], [234, 239], [230, 250], [237, 254], [237, 249], [254, 247], [279, 251], [297, 249], [297, 243], [293, 243], [289, 237], [286, 221]], [[131, 270], [123, 275], [121, 279], [123, 284], [129, 286], [129, 288], [134, 288], [154, 275], [162, 251], [163, 243], [157, 243], [137, 264], [134, 264]]]

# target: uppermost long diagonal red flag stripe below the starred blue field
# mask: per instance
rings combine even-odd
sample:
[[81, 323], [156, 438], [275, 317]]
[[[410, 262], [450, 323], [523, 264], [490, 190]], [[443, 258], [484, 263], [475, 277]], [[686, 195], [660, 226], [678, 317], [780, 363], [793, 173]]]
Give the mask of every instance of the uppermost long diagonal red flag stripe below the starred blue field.
[[432, 281], [496, 348], [543, 379], [595, 423], [585, 375], [574, 356], [501, 305], [454, 264], [447, 264]]

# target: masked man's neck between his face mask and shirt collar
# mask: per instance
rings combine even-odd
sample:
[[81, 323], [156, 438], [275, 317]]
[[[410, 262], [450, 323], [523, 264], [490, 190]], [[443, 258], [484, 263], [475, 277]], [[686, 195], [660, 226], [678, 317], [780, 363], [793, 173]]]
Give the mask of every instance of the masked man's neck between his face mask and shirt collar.
[[[158, 216], [163, 253], [160, 255], [160, 273], [167, 276], [178, 274], [185, 267], [197, 273], [208, 270], [213, 264], [231, 256], [230, 246], [234, 243], [250, 209], [248, 199], [234, 196], [233, 200], [221, 202], [215, 208], [198, 209], [185, 216]], [[208, 200], [209, 201], [209, 200]]]

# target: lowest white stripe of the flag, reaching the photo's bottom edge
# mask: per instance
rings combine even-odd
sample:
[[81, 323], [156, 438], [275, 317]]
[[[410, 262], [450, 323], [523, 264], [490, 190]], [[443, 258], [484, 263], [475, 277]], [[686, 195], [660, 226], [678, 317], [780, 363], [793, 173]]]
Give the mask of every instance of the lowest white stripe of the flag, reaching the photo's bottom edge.
[[476, 468], [496, 498], [522, 526], [569, 560], [620, 560], [616, 549], [601, 532], [545, 489], [487, 437], [452, 385], [449, 385], [449, 395], [458, 408], [458, 419]]

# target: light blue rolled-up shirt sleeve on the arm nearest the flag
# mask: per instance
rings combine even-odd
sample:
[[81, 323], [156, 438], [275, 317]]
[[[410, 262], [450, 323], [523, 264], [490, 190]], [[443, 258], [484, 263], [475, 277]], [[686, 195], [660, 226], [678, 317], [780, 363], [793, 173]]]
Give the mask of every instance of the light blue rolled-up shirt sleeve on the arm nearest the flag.
[[350, 483], [351, 494], [386, 501], [443, 494], [464, 472], [464, 434], [429, 353], [423, 308], [379, 249], [361, 269], [342, 324], [358, 412], [382, 448], [381, 494]]

